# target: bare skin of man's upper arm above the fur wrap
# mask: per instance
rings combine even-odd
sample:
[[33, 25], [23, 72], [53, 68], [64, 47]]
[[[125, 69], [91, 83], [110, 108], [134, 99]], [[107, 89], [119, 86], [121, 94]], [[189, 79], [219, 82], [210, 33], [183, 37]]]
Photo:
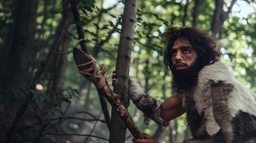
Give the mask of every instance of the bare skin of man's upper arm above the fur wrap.
[[165, 121], [171, 121], [185, 113], [185, 108], [182, 107], [183, 98], [184, 94], [179, 93], [164, 100], [161, 116]]

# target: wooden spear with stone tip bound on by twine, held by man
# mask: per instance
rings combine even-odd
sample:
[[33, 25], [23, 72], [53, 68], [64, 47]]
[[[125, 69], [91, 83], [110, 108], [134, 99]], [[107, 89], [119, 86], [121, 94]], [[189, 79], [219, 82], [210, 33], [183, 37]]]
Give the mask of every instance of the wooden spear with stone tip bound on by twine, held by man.
[[115, 94], [109, 87], [104, 74], [106, 71], [99, 70], [96, 67], [96, 61], [88, 54], [77, 48], [73, 49], [74, 60], [79, 72], [90, 82], [94, 83], [95, 87], [105, 96], [108, 102], [112, 105], [112, 108], [120, 115], [128, 130], [130, 130], [132, 136], [136, 139], [144, 139], [143, 135], [135, 125], [132, 117], [128, 113], [125, 106], [119, 100], [119, 95]]

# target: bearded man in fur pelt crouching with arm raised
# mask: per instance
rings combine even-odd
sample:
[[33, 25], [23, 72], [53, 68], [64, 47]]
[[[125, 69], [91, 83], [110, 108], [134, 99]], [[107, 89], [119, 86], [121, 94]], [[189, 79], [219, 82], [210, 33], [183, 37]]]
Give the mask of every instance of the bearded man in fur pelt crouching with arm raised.
[[[182, 143], [256, 143], [256, 94], [219, 62], [216, 42], [193, 27], [168, 28], [165, 38], [164, 63], [177, 94], [162, 102], [130, 81], [130, 99], [137, 108], [164, 126], [186, 112], [193, 139]], [[158, 143], [143, 135], [144, 140], [133, 142]]]

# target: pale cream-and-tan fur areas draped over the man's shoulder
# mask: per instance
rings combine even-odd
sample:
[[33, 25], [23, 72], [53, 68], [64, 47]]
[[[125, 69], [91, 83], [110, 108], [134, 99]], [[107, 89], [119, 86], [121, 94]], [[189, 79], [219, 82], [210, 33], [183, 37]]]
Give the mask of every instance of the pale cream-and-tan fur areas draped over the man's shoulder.
[[[227, 92], [228, 95], [225, 95], [226, 99], [224, 100], [227, 102], [219, 103], [213, 101], [215, 100], [213, 97], [218, 98], [220, 96], [219, 94], [222, 92], [216, 92], [209, 80], [213, 81], [214, 83], [220, 81], [232, 85], [232, 88]], [[221, 90], [224, 92], [226, 89], [222, 88], [220, 85], [218, 91]], [[184, 92], [186, 93], [187, 97], [194, 100], [195, 108], [199, 115], [204, 110], [204, 117], [206, 118], [206, 131], [211, 136], [220, 130], [220, 126], [216, 122], [216, 117], [219, 117], [219, 115], [218, 112], [213, 113], [213, 102], [214, 104], [217, 104], [217, 106], [218, 104], [225, 104], [230, 118], [235, 117], [239, 111], [256, 116], [256, 94], [247, 89], [247, 87], [241, 82], [236, 80], [235, 76], [224, 63], [216, 62], [212, 65], [205, 66], [198, 74], [197, 86], [191, 91]], [[183, 104], [186, 107], [186, 98], [184, 98]]]

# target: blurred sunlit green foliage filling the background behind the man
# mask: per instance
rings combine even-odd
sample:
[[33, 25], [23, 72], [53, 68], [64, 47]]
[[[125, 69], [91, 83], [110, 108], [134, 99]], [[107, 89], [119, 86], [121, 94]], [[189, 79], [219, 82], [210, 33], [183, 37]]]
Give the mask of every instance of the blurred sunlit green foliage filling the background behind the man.
[[[149, 93], [155, 98], [164, 100], [172, 95], [171, 72], [163, 63], [163, 33], [169, 26], [193, 26], [193, 13], [196, 0], [139, 0], [137, 7], [137, 22], [135, 26], [134, 46], [130, 65], [130, 78], [136, 80], [145, 93]], [[56, 35], [58, 26], [62, 20], [62, 0], [38, 0], [36, 17], [36, 32], [34, 37], [33, 54], [29, 60], [27, 72], [27, 82], [30, 83], [34, 77], [37, 61], [42, 60]], [[189, 3], [188, 3], [189, 2]], [[215, 1], [203, 0], [200, 6], [198, 22], [196, 27], [209, 31], [211, 35], [211, 23], [213, 20]], [[188, 9], [186, 11], [186, 5]], [[231, 0], [224, 0], [223, 10], [227, 11], [231, 5]], [[16, 0], [0, 0], [0, 51], [1, 55], [7, 54], [4, 51], [8, 48], [10, 28], [15, 24], [16, 12], [19, 5]], [[64, 52], [72, 51], [79, 42], [76, 25], [83, 26], [85, 41], [89, 54], [92, 54], [99, 65], [108, 66], [107, 76], [111, 77], [115, 71], [117, 48], [121, 31], [121, 18], [124, 11], [124, 1], [119, 0], [81, 0], [78, 3], [81, 16], [80, 22], [70, 20], [70, 29], [66, 28], [69, 44]], [[185, 13], [186, 11], [186, 13]], [[256, 2], [254, 0], [237, 0], [229, 17], [225, 20], [220, 30], [220, 37], [216, 39], [222, 51], [221, 61], [230, 65], [234, 75], [248, 88], [256, 91]], [[184, 15], [187, 15], [184, 21]], [[183, 25], [185, 24], [185, 25]], [[34, 28], [34, 27], [31, 27]], [[13, 33], [14, 35], [16, 33]], [[41, 52], [40, 52], [41, 50]], [[11, 51], [14, 52], [14, 51]], [[56, 53], [57, 54], [57, 53]], [[73, 118], [64, 120], [58, 128], [72, 134], [91, 134], [108, 139], [109, 130], [104, 122], [97, 90], [91, 83], [79, 74], [75, 66], [72, 52], [66, 54], [67, 65], [64, 69], [49, 64], [40, 79], [43, 86], [43, 95], [49, 96], [58, 92], [62, 97], [62, 108], [55, 108], [49, 105], [49, 99], [40, 99], [42, 106], [48, 106], [47, 115], [49, 118], [64, 118], [65, 115], [76, 113]], [[13, 65], [15, 66], [15, 65]], [[2, 67], [2, 65], [1, 65]], [[1, 70], [7, 73], [5, 69]], [[51, 72], [63, 70], [64, 76], [52, 76]], [[25, 71], [20, 71], [24, 73]], [[53, 80], [63, 80], [62, 90], [56, 91], [49, 88]], [[110, 86], [112, 88], [112, 86]], [[1, 88], [1, 93], [19, 91]], [[4, 93], [5, 95], [5, 93]], [[1, 104], [6, 106], [10, 101], [17, 100], [17, 97], [7, 99], [1, 96]], [[50, 97], [51, 98], [51, 97]], [[52, 99], [52, 98], [51, 98]], [[36, 99], [39, 100], [39, 99]], [[42, 101], [41, 101], [42, 100]], [[45, 102], [44, 102], [45, 101]], [[48, 104], [46, 104], [48, 103]], [[51, 103], [51, 102], [50, 102]], [[12, 103], [15, 105], [15, 103]], [[59, 105], [58, 105], [59, 106]], [[66, 111], [64, 109], [67, 109]], [[108, 104], [108, 109], [111, 107]], [[151, 121], [149, 126], [143, 123], [144, 117], [141, 111], [135, 108], [132, 102], [128, 108], [140, 130], [156, 137], [160, 143], [179, 143], [189, 138], [189, 131], [184, 124], [185, 115], [173, 120], [171, 128], [164, 128], [160, 135], [156, 135], [157, 125]], [[13, 111], [14, 112], [14, 111]], [[6, 119], [13, 120], [11, 117]], [[32, 117], [28, 117], [31, 119]], [[43, 132], [50, 133], [53, 128], [47, 126]], [[40, 141], [54, 142], [54, 135], [40, 137]], [[74, 143], [104, 143], [108, 142], [96, 137], [89, 136], [65, 136], [66, 142]], [[132, 136], [127, 131], [127, 143], [131, 143]], [[28, 138], [27, 138], [28, 139]], [[20, 142], [25, 140], [19, 140]], [[27, 140], [26, 140], [27, 141]], [[35, 138], [29, 138], [35, 142]]]

